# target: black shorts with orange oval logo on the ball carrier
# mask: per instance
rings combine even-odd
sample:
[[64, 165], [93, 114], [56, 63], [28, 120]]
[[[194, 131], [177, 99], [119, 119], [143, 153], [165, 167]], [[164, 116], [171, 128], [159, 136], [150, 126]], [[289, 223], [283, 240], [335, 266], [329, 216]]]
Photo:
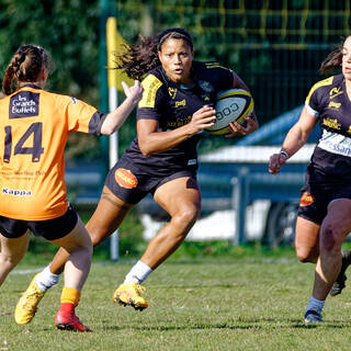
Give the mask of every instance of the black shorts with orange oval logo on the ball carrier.
[[106, 176], [105, 185], [125, 203], [137, 204], [148, 193], [154, 195], [160, 185], [182, 177], [196, 179], [196, 171], [185, 169], [167, 176], [150, 177], [141, 167], [134, 165], [127, 157], [122, 157]]

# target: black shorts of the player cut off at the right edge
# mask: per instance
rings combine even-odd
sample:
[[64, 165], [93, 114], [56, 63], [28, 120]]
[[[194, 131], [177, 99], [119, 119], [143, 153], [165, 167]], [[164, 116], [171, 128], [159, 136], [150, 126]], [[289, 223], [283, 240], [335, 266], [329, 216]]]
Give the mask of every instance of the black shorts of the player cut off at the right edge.
[[297, 215], [320, 225], [329, 203], [337, 199], [351, 200], [351, 182], [327, 177], [309, 166], [305, 185], [301, 190]]

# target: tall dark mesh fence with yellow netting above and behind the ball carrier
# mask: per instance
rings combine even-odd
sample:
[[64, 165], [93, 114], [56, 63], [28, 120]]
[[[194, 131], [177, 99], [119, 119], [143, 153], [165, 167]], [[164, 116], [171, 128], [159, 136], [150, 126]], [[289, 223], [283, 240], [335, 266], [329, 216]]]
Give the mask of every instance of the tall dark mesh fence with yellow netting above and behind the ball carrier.
[[305, 100], [320, 63], [350, 32], [349, 0], [122, 0], [118, 29], [135, 41], [166, 26], [194, 36], [196, 57], [216, 59], [250, 87], [261, 123]]

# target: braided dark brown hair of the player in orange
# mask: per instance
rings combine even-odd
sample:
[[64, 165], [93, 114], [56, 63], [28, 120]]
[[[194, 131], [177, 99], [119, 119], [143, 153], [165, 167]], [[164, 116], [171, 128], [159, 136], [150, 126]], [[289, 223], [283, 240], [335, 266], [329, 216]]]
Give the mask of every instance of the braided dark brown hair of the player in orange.
[[48, 69], [49, 58], [46, 50], [37, 45], [22, 45], [14, 53], [5, 70], [2, 89], [7, 95], [12, 93], [12, 81], [35, 82], [43, 68]]

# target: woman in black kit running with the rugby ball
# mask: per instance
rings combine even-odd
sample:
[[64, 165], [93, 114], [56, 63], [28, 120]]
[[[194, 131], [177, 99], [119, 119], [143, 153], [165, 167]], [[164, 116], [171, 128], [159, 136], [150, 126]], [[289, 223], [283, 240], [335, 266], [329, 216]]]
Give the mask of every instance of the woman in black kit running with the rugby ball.
[[[109, 172], [87, 229], [93, 245], [99, 245], [148, 193], [169, 213], [169, 223], [149, 241], [140, 260], [113, 294], [114, 302], [136, 309], [147, 307], [139, 284], [177, 250], [200, 214], [196, 145], [201, 132], [215, 120], [213, 105], [217, 91], [248, 90], [231, 70], [217, 63], [194, 61], [193, 56], [190, 34], [183, 29], [169, 29], [157, 37], [140, 37], [139, 44], [128, 46], [118, 66], [134, 79], [144, 78], [137, 137]], [[231, 123], [226, 137], [257, 129], [254, 114], [246, 121], [245, 127]], [[60, 249], [35, 284], [53, 285], [66, 260], [67, 252]], [[36, 304], [33, 302], [29, 315]]]

